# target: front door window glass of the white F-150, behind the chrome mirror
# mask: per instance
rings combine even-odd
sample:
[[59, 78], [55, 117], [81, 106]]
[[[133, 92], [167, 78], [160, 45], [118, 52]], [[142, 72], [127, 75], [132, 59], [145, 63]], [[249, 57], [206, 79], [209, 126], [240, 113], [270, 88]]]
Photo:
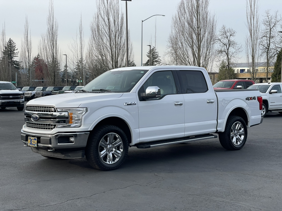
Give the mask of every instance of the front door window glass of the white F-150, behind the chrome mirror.
[[176, 94], [176, 87], [171, 71], [155, 72], [143, 85], [144, 92], [148, 86], [158, 86], [161, 90], [161, 97], [167, 94]]

